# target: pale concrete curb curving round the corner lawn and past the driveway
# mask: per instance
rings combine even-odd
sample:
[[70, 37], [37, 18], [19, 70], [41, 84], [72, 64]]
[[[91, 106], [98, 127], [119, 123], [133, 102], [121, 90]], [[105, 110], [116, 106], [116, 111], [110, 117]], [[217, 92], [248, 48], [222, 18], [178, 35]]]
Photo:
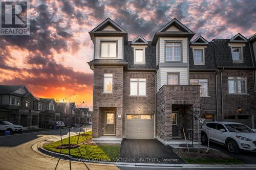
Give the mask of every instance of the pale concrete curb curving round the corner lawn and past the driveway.
[[[82, 158], [74, 158], [70, 155], [55, 153], [48, 151], [42, 148], [43, 144], [46, 141], [35, 143], [35, 147], [32, 147], [33, 150], [37, 149], [42, 154], [52, 156], [55, 158], [61, 158], [66, 160], [73, 160], [78, 162], [88, 162], [88, 163], [103, 163], [103, 164], [113, 164], [116, 166], [125, 166], [125, 167], [176, 167], [176, 168], [250, 168], [256, 169], [256, 164], [166, 164], [166, 163], [128, 163], [128, 162], [103, 162], [103, 161], [82, 161]], [[33, 146], [34, 146], [33, 145]]]

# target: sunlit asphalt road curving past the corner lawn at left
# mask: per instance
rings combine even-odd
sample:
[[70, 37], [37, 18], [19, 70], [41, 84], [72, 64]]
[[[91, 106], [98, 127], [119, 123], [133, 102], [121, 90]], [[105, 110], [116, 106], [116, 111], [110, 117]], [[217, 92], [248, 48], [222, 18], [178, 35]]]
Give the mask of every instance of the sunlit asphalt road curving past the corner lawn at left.
[[[79, 128], [71, 129], [71, 134], [76, 132]], [[68, 129], [61, 133], [67, 137]], [[118, 169], [113, 165], [53, 158], [32, 150], [33, 144], [48, 139], [59, 140], [59, 130], [0, 136], [0, 169]]]

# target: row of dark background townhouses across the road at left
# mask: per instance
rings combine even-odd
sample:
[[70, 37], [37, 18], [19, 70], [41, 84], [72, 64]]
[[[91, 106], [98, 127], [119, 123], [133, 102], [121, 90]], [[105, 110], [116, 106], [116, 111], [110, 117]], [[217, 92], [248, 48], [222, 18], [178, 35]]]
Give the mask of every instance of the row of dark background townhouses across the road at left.
[[[89, 112], [89, 108], [82, 109]], [[25, 128], [42, 128], [41, 123], [49, 120], [63, 121], [68, 125], [69, 114], [71, 125], [87, 120], [83, 111], [75, 114], [75, 103], [56, 103], [54, 99], [37, 98], [22, 85], [0, 85], [0, 119]]]

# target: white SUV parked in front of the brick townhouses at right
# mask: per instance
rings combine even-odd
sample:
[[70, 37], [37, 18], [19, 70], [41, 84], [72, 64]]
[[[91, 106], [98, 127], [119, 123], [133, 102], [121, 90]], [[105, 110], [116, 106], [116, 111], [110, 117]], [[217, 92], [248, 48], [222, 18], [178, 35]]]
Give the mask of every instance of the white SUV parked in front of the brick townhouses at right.
[[225, 145], [232, 154], [239, 151], [256, 151], [256, 133], [246, 125], [234, 122], [207, 122], [202, 126], [201, 142], [210, 141]]

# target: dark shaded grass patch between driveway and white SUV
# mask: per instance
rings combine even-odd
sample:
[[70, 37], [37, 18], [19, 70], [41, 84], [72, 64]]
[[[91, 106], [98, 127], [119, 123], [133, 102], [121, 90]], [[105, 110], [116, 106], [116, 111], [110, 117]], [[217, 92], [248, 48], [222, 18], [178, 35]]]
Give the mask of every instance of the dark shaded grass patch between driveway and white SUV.
[[174, 149], [173, 151], [180, 156], [186, 163], [193, 164], [243, 164], [237, 158], [228, 156], [223, 152], [216, 150], [209, 150], [208, 153], [205, 152], [206, 149], [190, 148], [190, 152], [187, 149]]

